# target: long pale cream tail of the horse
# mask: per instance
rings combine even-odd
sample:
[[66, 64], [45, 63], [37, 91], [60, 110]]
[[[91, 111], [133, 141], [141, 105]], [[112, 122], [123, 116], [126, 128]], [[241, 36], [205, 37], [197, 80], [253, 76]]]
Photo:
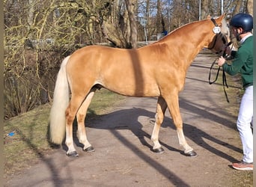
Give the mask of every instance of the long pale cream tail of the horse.
[[55, 83], [52, 108], [50, 112], [50, 141], [61, 144], [66, 132], [65, 111], [69, 104], [70, 88], [67, 81], [66, 64], [70, 56], [64, 58]]

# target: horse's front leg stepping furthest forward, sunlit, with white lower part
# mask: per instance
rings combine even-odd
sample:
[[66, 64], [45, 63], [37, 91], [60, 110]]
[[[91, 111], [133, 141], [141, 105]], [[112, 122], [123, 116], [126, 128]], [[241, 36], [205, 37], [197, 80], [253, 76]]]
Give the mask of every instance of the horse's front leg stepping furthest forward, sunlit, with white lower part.
[[179, 143], [180, 143], [180, 146], [183, 147], [185, 155], [197, 156], [197, 153], [195, 153], [192, 147], [190, 147], [189, 144], [187, 144], [184, 133], [183, 133], [183, 120], [180, 116], [178, 93], [168, 94], [168, 96], [165, 96], [165, 101], [167, 102], [168, 109], [174, 121], [174, 125], [177, 128]]

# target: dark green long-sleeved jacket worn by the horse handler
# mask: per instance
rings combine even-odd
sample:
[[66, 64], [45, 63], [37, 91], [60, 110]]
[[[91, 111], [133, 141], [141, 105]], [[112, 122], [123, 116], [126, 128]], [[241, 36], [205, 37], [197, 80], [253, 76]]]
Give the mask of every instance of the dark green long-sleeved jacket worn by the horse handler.
[[253, 85], [253, 36], [246, 38], [231, 55], [234, 60], [231, 64], [223, 64], [223, 70], [231, 76], [241, 73], [243, 88]]

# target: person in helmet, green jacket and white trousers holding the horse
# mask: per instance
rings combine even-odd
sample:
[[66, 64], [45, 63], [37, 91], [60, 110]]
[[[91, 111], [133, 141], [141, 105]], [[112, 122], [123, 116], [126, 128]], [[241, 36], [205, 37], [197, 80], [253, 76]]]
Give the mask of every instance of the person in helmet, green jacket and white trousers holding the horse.
[[233, 163], [237, 170], [253, 171], [253, 135], [251, 129], [253, 117], [253, 18], [247, 13], [238, 13], [231, 18], [231, 31], [240, 41], [237, 51], [228, 47], [226, 53], [233, 57], [231, 64], [225, 58], [219, 58], [218, 64], [231, 76], [241, 74], [245, 92], [240, 103], [237, 117], [237, 129], [243, 145], [243, 159]]

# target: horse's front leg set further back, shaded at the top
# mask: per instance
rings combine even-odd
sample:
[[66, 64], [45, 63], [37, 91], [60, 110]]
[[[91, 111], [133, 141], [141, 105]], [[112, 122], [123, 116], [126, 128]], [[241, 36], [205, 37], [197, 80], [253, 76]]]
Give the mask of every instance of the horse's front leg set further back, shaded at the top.
[[151, 135], [151, 141], [153, 141], [153, 151], [156, 153], [163, 153], [163, 149], [161, 144], [159, 144], [159, 130], [162, 124], [162, 121], [165, 117], [165, 110], [167, 108], [165, 99], [159, 96], [156, 105], [156, 116], [155, 116], [155, 124], [153, 126], [153, 132]]

